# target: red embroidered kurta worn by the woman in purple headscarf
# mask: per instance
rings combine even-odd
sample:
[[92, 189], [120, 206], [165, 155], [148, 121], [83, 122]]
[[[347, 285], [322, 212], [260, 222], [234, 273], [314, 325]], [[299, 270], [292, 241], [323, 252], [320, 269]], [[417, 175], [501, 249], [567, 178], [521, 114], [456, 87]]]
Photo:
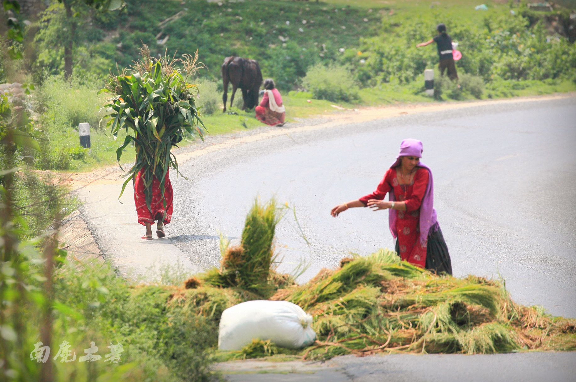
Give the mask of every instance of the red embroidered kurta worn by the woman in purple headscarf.
[[426, 246], [420, 243], [420, 204], [428, 186], [429, 173], [425, 168], [419, 168], [410, 184], [400, 184], [396, 168], [390, 168], [384, 174], [384, 179], [378, 184], [372, 194], [362, 196], [359, 200], [367, 205], [370, 199], [382, 200], [390, 190], [393, 190], [397, 202], [406, 202], [406, 211], [398, 211], [396, 232], [400, 244], [400, 258], [416, 266], [426, 266]]

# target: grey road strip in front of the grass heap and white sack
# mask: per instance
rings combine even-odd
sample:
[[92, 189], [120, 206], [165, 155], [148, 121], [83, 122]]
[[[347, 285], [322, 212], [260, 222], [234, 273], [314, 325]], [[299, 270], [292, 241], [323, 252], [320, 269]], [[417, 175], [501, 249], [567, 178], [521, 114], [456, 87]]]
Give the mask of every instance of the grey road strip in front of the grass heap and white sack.
[[230, 382], [573, 382], [576, 353], [344, 355], [325, 363], [233, 361]]

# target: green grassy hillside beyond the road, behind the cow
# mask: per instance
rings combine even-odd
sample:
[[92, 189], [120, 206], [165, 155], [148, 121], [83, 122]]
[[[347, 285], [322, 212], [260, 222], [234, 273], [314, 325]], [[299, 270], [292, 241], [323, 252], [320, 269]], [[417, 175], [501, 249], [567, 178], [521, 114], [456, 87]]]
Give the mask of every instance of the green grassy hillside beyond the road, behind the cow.
[[[460, 41], [460, 50], [464, 54], [464, 58], [457, 64], [459, 73], [461, 75], [464, 75], [464, 72], [471, 73], [469, 75], [482, 77], [482, 79], [478, 83], [478, 78], [476, 78], [475, 91], [450, 89], [450, 84], [437, 81], [438, 86], [444, 86], [444, 89], [438, 89], [444, 93], [439, 96], [439, 99], [444, 101], [494, 99], [576, 90], [576, 84], [571, 78], [556, 74], [555, 78], [553, 75], [546, 80], [530, 80], [529, 73], [518, 74], [515, 71], [514, 75], [520, 77], [505, 80], [499, 75], [509, 73], [499, 69], [501, 70], [499, 74], [494, 76], [492, 73], [494, 67], [501, 68], [508, 65], [512, 67], [510, 70], [517, 70], [516, 63], [512, 62], [516, 65], [514, 66], [508, 61], [506, 65], [501, 65], [500, 62], [482, 61], [483, 57], [494, 56], [493, 51], [488, 49], [497, 49], [498, 44], [503, 44], [502, 46], [506, 49], [514, 44], [520, 44], [518, 49], [528, 44], [525, 37], [522, 37], [524, 36], [522, 33], [532, 33], [526, 29], [535, 28], [530, 25], [520, 23], [524, 26], [518, 27], [518, 31], [525, 32], [518, 32], [520, 36], [518, 40], [514, 40], [516, 37], [510, 39], [510, 33], [506, 31], [498, 35], [499, 29], [492, 33], [498, 36], [490, 36], [486, 32], [487, 17], [495, 20], [501, 20], [506, 15], [511, 17], [509, 5], [488, 2], [487, 5], [490, 8], [488, 12], [474, 10], [473, 6], [476, 3], [468, 0], [453, 0], [439, 5], [414, 1], [334, 0], [319, 3], [284, 1], [272, 3], [252, 0], [237, 3], [225, 2], [222, 6], [198, 0], [184, 3], [166, 0], [162, 2], [162, 6], [158, 6], [157, 3], [152, 5], [148, 2], [141, 3], [138, 0], [132, 0], [128, 1], [128, 5], [127, 14], [112, 17], [106, 22], [85, 25], [88, 32], [92, 33], [90, 36], [102, 36], [103, 33], [111, 36], [92, 41], [92, 46], [86, 54], [94, 60], [105, 59], [111, 64], [118, 62], [120, 66], [128, 66], [131, 60], [136, 58], [135, 51], [141, 41], [149, 44], [154, 54], [164, 52], [165, 48], [168, 48], [168, 52], [179, 52], [177, 54], [199, 48], [200, 58], [208, 66], [202, 74], [203, 77], [198, 78], [198, 82], [206, 84], [204, 88], [200, 86], [200, 103], [207, 101], [211, 103], [211, 108], [215, 109], [213, 114], [205, 112], [203, 117], [210, 134], [226, 134], [262, 126], [254, 118], [253, 112], [241, 112], [237, 108], [230, 109], [236, 112], [236, 115], [221, 115], [218, 112], [221, 107], [221, 89], [218, 89], [218, 87], [221, 88], [219, 65], [223, 57], [230, 54], [259, 60], [264, 77], [274, 78], [282, 90], [288, 121], [339, 112], [332, 108], [331, 104], [354, 108], [360, 105], [434, 101], [423, 95], [422, 71], [426, 67], [436, 65], [435, 48], [430, 46], [415, 51], [414, 45], [420, 40], [431, 37], [434, 34], [434, 25], [438, 20], [444, 19], [453, 22], [454, 32], [451, 29], [450, 33]], [[517, 11], [520, 12], [519, 9]], [[179, 16], [172, 21], [158, 24], [158, 20], [165, 20], [176, 14]], [[425, 26], [411, 26], [410, 23], [417, 18], [420, 20], [418, 22]], [[516, 22], [516, 19], [502, 20], [498, 21], [500, 24], [492, 25], [491, 28], [502, 28], [502, 25]], [[289, 25], [286, 21], [289, 21]], [[304, 21], [306, 24], [303, 23]], [[449, 25], [449, 28], [452, 28], [452, 25]], [[159, 33], [164, 37], [169, 36], [163, 45], [157, 43], [156, 36]], [[536, 39], [538, 38], [540, 37]], [[479, 46], [482, 47], [479, 48]], [[532, 51], [540, 54], [538, 50], [546, 47], [545, 44], [535, 45], [535, 48], [531, 46], [530, 51], [521, 56], [526, 58]], [[340, 52], [340, 48], [344, 49], [344, 53]], [[398, 54], [388, 56], [386, 49], [398, 52]], [[399, 50], [395, 51], [395, 49]], [[516, 49], [514, 47], [514, 50]], [[404, 54], [404, 51], [407, 51], [409, 55], [403, 58], [404, 61], [395, 62], [394, 57]], [[518, 52], [514, 51], [510, 56], [514, 54], [518, 55]], [[551, 57], [554, 58], [554, 55]], [[353, 80], [357, 81], [359, 86], [354, 90], [355, 93], [348, 102], [342, 99], [316, 100], [313, 93], [289, 91], [301, 86], [301, 79], [305, 77], [308, 67], [315, 63], [324, 65], [337, 63], [350, 68]], [[522, 65], [526, 66], [525, 64], [520, 66]], [[93, 73], [95, 69], [90, 67], [90, 60], [83, 60], [78, 64], [77, 70], [92, 70], [91, 73]], [[98, 80], [93, 81], [90, 84], [91, 88], [86, 88], [86, 90], [93, 92], [98, 88], [95, 85], [98, 82]], [[211, 87], [208, 86], [210, 84]], [[77, 89], [69, 90], [69, 92], [62, 90], [54, 96], [66, 98], [71, 92], [77, 91]], [[241, 99], [240, 92], [236, 94], [236, 99]], [[306, 101], [308, 99], [311, 103]], [[87, 107], [90, 110], [84, 110], [84, 114], [97, 115], [101, 101], [101, 99], [93, 98]], [[66, 106], [63, 103], [59, 105], [60, 107], [52, 107], [52, 114], [66, 115], [66, 112], [63, 112]], [[67, 155], [66, 150], [78, 150], [77, 131], [74, 130], [77, 126], [75, 118], [60, 118], [54, 123], [50, 122], [50, 118], [40, 118], [40, 120], [43, 124], [51, 124], [45, 130], [50, 135], [55, 151], [58, 151], [56, 146], [63, 147], [65, 153], [62, 157]], [[94, 126], [93, 123], [91, 124]], [[91, 152], [76, 153], [69, 160], [69, 164], [60, 166], [61, 169], [88, 171], [115, 162], [116, 143], [105, 137], [102, 131], [94, 130]], [[130, 162], [133, 157], [134, 153], [128, 147], [123, 158]], [[58, 168], [58, 166], [46, 165], [44, 168]]]

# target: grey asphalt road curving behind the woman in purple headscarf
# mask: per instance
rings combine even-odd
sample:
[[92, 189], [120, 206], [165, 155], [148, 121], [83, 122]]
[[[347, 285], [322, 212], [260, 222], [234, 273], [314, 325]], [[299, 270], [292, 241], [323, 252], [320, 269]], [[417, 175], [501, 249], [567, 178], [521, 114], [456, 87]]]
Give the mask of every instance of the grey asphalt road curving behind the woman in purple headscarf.
[[219, 234], [240, 236], [253, 199], [294, 205], [277, 237], [301, 281], [353, 251], [393, 248], [387, 212], [329, 217], [339, 202], [374, 190], [403, 138], [424, 143], [435, 208], [454, 275], [506, 279], [514, 300], [576, 317], [576, 98], [490, 104], [300, 131], [205, 154], [173, 181], [172, 243], [196, 266], [219, 260]]

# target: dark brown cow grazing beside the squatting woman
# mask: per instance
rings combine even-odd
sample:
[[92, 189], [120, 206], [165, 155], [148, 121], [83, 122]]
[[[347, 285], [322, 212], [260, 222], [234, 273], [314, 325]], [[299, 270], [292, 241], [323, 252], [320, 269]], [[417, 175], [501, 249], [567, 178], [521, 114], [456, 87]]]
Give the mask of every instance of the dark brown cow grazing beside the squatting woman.
[[258, 104], [258, 92], [262, 85], [262, 71], [256, 60], [241, 58], [236, 56], [226, 57], [222, 64], [222, 81], [224, 82], [224, 103], [223, 112], [226, 111], [226, 101], [228, 100], [228, 82], [232, 84], [232, 97], [230, 97], [230, 107], [234, 102], [236, 89], [242, 90], [242, 110], [252, 109]]

